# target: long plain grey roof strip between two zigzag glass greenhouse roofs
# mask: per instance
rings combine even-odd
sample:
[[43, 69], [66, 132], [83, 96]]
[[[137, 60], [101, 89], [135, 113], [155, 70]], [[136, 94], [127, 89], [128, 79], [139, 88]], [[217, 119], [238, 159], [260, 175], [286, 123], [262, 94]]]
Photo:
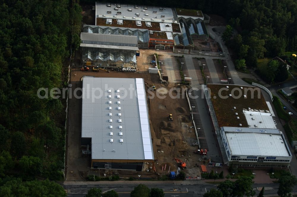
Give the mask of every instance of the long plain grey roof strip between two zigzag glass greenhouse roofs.
[[114, 34], [81, 32], [80, 39], [82, 41], [99, 41], [99, 42], [111, 42], [111, 43], [137, 45], [137, 36], [130, 36], [130, 35], [114, 35]]

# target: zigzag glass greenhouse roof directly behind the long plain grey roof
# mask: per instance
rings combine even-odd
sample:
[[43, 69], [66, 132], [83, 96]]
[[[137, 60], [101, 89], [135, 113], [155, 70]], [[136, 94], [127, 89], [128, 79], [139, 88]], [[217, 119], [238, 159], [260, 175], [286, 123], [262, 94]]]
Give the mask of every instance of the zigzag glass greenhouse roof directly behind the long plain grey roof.
[[83, 32], [114, 35], [134, 35], [137, 36], [138, 47], [149, 48], [149, 30], [147, 29], [83, 25]]

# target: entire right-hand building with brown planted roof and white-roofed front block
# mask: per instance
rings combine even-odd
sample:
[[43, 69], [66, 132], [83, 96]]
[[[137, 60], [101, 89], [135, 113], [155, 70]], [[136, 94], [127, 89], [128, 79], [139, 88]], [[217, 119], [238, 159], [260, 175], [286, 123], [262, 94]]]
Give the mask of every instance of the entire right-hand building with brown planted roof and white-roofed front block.
[[[292, 154], [257, 87], [207, 84], [203, 91], [225, 164], [287, 167]], [[236, 92], [236, 93], [235, 93]]]

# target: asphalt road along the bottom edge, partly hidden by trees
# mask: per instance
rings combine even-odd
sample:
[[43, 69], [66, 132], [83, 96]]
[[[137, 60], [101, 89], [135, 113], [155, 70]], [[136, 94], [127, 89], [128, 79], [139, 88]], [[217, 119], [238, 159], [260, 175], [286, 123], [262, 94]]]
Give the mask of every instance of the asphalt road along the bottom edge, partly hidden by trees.
[[[116, 182], [115, 182], [116, 183]], [[130, 192], [138, 184], [114, 184], [114, 185], [63, 185], [64, 189], [67, 189], [68, 196], [85, 196], [89, 189], [99, 187], [102, 191], [114, 189], [119, 193], [120, 197], [130, 196]], [[162, 188], [165, 196], [178, 196], [178, 197], [200, 197], [204, 193], [211, 190], [211, 188], [217, 188], [216, 184], [146, 184], [149, 188]], [[257, 188], [261, 187], [272, 188], [272, 190], [266, 190], [265, 195], [277, 194], [278, 184], [254, 184], [253, 190], [256, 194], [259, 193]], [[297, 193], [297, 186], [293, 188], [293, 193]]]

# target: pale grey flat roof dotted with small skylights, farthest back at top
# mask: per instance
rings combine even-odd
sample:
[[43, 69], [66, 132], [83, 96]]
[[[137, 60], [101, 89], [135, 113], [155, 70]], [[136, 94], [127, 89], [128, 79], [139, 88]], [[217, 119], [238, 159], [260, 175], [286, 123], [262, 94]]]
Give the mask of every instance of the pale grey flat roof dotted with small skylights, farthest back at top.
[[[172, 8], [169, 8], [169, 7], [138, 5], [138, 9], [136, 9], [135, 8], [136, 4], [135, 5], [127, 5], [127, 4], [115, 5], [115, 4], [116, 3], [96, 2], [96, 14], [95, 14], [96, 18], [112, 18], [112, 19], [122, 19], [122, 20], [139, 20], [139, 21], [167, 22], [167, 23], [172, 23], [172, 21], [175, 21], [173, 16], [173, 10]], [[110, 7], [107, 7], [107, 5], [110, 5]], [[121, 6], [121, 7], [117, 7], [117, 6]], [[115, 10], [115, 8], [117, 8], [118, 10]], [[131, 11], [128, 11], [128, 9]], [[145, 10], [145, 12], [143, 12], [143, 10]], [[154, 13], [154, 11], [156, 11], [156, 13]], [[107, 12], [111, 12], [111, 13], [108, 14]], [[117, 14], [118, 12], [121, 12], [121, 14]], [[136, 15], [136, 13], [139, 15]], [[146, 14], [148, 16], [146, 16]], [[144, 18], [144, 20], [142, 20], [142, 18]], [[154, 20], [151, 20], [151, 19], [154, 19]]]

